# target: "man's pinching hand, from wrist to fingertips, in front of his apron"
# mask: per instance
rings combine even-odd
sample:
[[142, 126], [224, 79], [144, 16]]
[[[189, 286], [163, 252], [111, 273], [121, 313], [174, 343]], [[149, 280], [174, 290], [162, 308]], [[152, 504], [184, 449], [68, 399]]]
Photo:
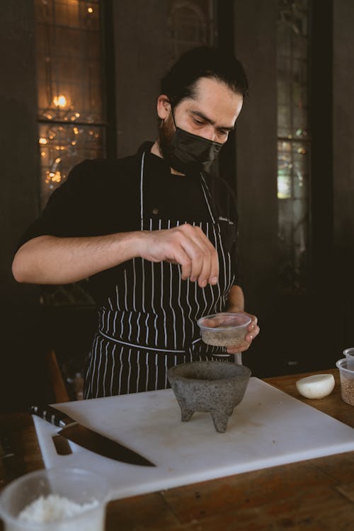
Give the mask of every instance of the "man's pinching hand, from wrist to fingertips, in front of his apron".
[[217, 284], [217, 251], [200, 227], [185, 223], [173, 229], [144, 231], [139, 256], [152, 262], [180, 264], [183, 280], [198, 280], [200, 287]]

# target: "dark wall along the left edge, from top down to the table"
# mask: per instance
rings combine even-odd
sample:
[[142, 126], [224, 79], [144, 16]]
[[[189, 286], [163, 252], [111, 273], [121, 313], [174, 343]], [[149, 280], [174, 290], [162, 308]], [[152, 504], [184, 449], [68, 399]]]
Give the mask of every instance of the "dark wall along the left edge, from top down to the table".
[[1, 6], [0, 62], [0, 408], [18, 409], [46, 393], [38, 290], [11, 274], [18, 238], [38, 214], [33, 1]]

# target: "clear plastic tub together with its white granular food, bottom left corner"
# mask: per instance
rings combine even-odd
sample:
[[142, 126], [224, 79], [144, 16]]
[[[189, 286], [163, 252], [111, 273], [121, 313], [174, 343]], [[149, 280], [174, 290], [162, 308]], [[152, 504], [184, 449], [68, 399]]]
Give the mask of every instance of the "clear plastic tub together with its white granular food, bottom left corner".
[[0, 493], [6, 531], [103, 531], [110, 488], [96, 472], [53, 467], [29, 472]]

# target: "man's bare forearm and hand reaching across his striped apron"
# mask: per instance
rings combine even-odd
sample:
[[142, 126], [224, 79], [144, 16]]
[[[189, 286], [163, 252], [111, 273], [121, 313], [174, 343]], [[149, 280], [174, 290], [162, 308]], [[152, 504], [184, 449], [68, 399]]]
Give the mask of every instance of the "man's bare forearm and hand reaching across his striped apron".
[[198, 280], [200, 287], [217, 284], [217, 251], [200, 227], [190, 224], [105, 236], [38, 236], [18, 249], [12, 270], [18, 282], [60, 285], [77, 282], [137, 257], [180, 264], [182, 278]]

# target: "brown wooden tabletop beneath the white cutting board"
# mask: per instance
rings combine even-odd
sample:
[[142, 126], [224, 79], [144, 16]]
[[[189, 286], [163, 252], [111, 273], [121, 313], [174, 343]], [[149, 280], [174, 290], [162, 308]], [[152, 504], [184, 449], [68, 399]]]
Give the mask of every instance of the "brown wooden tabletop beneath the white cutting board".
[[[310, 373], [265, 381], [354, 427], [354, 408], [341, 400], [338, 370], [318, 372], [331, 372], [336, 379], [333, 393], [321, 400], [297, 393], [296, 380]], [[0, 428], [12, 433], [22, 457], [17, 473], [44, 467], [30, 415], [2, 415]], [[1, 464], [0, 481], [2, 486], [8, 481]], [[353, 531], [354, 452], [125, 498], [107, 508], [106, 531], [232, 530]]]

